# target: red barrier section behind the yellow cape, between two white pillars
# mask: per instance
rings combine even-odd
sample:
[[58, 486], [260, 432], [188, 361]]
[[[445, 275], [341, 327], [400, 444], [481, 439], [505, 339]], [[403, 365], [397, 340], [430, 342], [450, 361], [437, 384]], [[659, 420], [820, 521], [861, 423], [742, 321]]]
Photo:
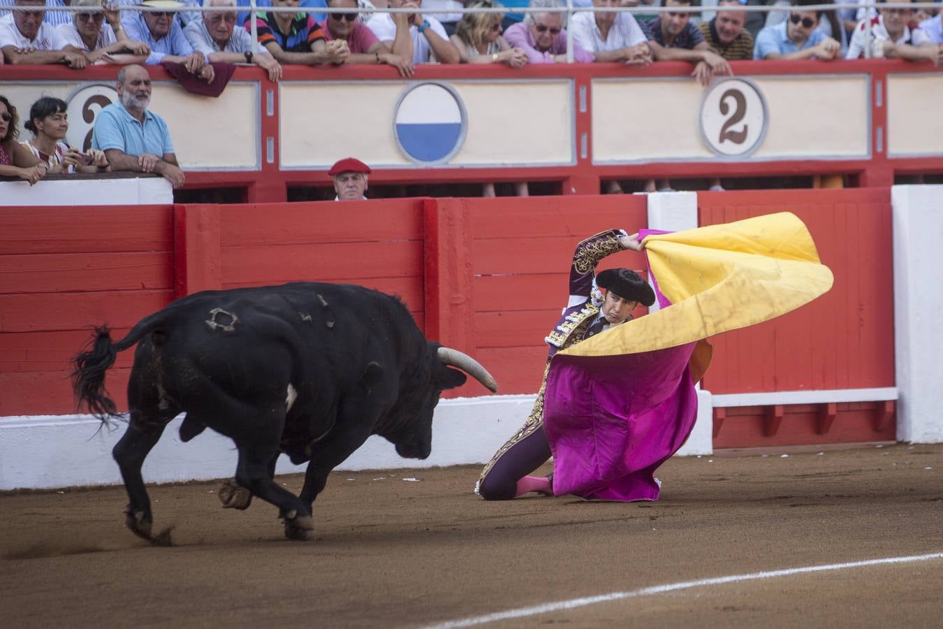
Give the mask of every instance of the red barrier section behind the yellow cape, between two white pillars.
[[[698, 194], [700, 224], [729, 223], [788, 210], [809, 228], [819, 258], [835, 274], [831, 291], [771, 322], [711, 339], [704, 378], [712, 393], [893, 387], [894, 291], [890, 190], [779, 190]], [[771, 409], [727, 409], [715, 416], [715, 446], [743, 447], [891, 440], [884, 405], [843, 404], [822, 432], [822, 408], [786, 406], [786, 427], [769, 435]]]

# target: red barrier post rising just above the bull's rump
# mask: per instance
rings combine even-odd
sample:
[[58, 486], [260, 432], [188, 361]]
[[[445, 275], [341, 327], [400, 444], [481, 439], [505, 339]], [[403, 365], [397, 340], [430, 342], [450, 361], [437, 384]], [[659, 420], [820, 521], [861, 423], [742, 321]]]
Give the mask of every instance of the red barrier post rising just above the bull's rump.
[[220, 206], [174, 206], [174, 299], [223, 288]]

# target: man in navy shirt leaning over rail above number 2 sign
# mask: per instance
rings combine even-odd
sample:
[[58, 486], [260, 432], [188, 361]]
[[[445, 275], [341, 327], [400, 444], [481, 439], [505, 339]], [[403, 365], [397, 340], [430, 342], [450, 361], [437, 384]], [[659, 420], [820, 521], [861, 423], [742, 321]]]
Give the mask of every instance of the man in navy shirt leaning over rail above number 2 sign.
[[[665, 7], [690, 8], [693, 2], [695, 0], [665, 0]], [[731, 74], [727, 60], [712, 51], [701, 30], [691, 24], [690, 11], [661, 13], [646, 26], [655, 60], [691, 61], [694, 63], [691, 75], [703, 86], [711, 82], [714, 74]]]

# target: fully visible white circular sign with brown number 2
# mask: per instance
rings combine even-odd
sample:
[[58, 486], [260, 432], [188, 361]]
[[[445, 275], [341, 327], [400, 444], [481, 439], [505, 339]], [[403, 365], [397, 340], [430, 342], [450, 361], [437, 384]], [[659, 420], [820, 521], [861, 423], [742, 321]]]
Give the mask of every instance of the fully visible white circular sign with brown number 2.
[[701, 102], [701, 136], [720, 157], [747, 157], [766, 138], [766, 99], [750, 79], [725, 78], [711, 85]]

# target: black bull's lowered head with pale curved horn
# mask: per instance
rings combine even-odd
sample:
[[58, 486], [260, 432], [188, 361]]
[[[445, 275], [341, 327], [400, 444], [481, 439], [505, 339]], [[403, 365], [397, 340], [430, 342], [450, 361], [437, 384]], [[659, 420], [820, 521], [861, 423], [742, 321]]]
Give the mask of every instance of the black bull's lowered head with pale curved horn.
[[411, 417], [407, 422], [400, 422], [400, 430], [385, 435], [396, 445], [396, 454], [405, 458], [423, 459], [432, 452], [432, 416], [438, 405], [438, 397], [443, 390], [464, 385], [468, 379], [465, 373], [491, 392], [498, 391], [498, 383], [472, 356], [432, 342], [429, 343], [429, 349], [427, 373], [419, 379], [422, 384], [411, 391], [412, 395], [409, 396], [412, 400], [407, 412]]

